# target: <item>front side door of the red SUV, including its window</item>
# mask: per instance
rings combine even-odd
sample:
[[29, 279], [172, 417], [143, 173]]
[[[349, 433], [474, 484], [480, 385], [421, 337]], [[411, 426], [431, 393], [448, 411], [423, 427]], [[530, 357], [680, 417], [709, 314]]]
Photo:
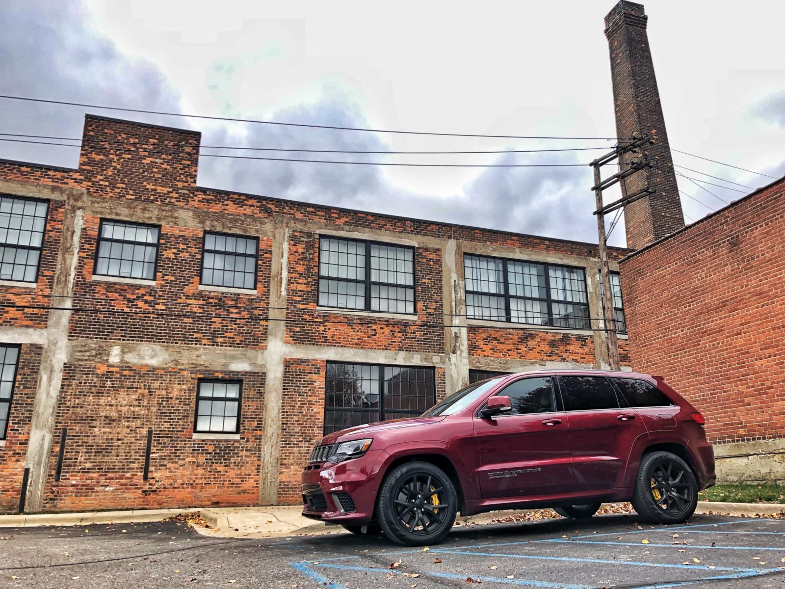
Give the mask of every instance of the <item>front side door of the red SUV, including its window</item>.
[[538, 496], [573, 488], [567, 417], [552, 375], [518, 379], [497, 394], [513, 408], [475, 415], [474, 447], [484, 499]]

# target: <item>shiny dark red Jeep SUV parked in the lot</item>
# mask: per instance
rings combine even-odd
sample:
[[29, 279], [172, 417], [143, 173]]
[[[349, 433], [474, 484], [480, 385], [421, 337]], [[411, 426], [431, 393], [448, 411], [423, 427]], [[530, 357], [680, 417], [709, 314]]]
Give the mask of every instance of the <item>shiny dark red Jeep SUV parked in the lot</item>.
[[659, 376], [531, 371], [459, 390], [412, 419], [324, 437], [302, 474], [302, 514], [397, 543], [438, 543], [463, 515], [604, 501], [685, 521], [714, 485], [703, 415]]

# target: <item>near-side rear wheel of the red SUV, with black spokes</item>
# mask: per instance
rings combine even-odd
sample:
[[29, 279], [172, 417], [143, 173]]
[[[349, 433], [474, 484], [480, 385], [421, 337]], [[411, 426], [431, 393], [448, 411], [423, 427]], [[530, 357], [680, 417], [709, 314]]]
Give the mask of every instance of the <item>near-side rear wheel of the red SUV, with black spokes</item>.
[[698, 505], [695, 474], [675, 454], [646, 454], [638, 467], [632, 504], [646, 521], [657, 524], [687, 521]]

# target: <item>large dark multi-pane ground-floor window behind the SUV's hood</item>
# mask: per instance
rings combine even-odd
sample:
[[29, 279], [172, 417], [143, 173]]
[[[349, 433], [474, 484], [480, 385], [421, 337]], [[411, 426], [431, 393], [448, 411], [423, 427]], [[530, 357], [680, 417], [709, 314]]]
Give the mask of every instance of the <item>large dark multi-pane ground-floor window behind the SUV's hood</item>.
[[436, 403], [433, 368], [327, 362], [324, 434], [420, 415]]

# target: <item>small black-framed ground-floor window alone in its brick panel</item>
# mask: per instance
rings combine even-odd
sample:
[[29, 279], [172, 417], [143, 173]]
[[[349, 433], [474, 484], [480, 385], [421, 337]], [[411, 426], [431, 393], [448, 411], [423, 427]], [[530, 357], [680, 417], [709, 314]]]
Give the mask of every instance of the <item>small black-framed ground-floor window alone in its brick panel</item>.
[[243, 382], [199, 380], [196, 392], [197, 434], [239, 434]]

